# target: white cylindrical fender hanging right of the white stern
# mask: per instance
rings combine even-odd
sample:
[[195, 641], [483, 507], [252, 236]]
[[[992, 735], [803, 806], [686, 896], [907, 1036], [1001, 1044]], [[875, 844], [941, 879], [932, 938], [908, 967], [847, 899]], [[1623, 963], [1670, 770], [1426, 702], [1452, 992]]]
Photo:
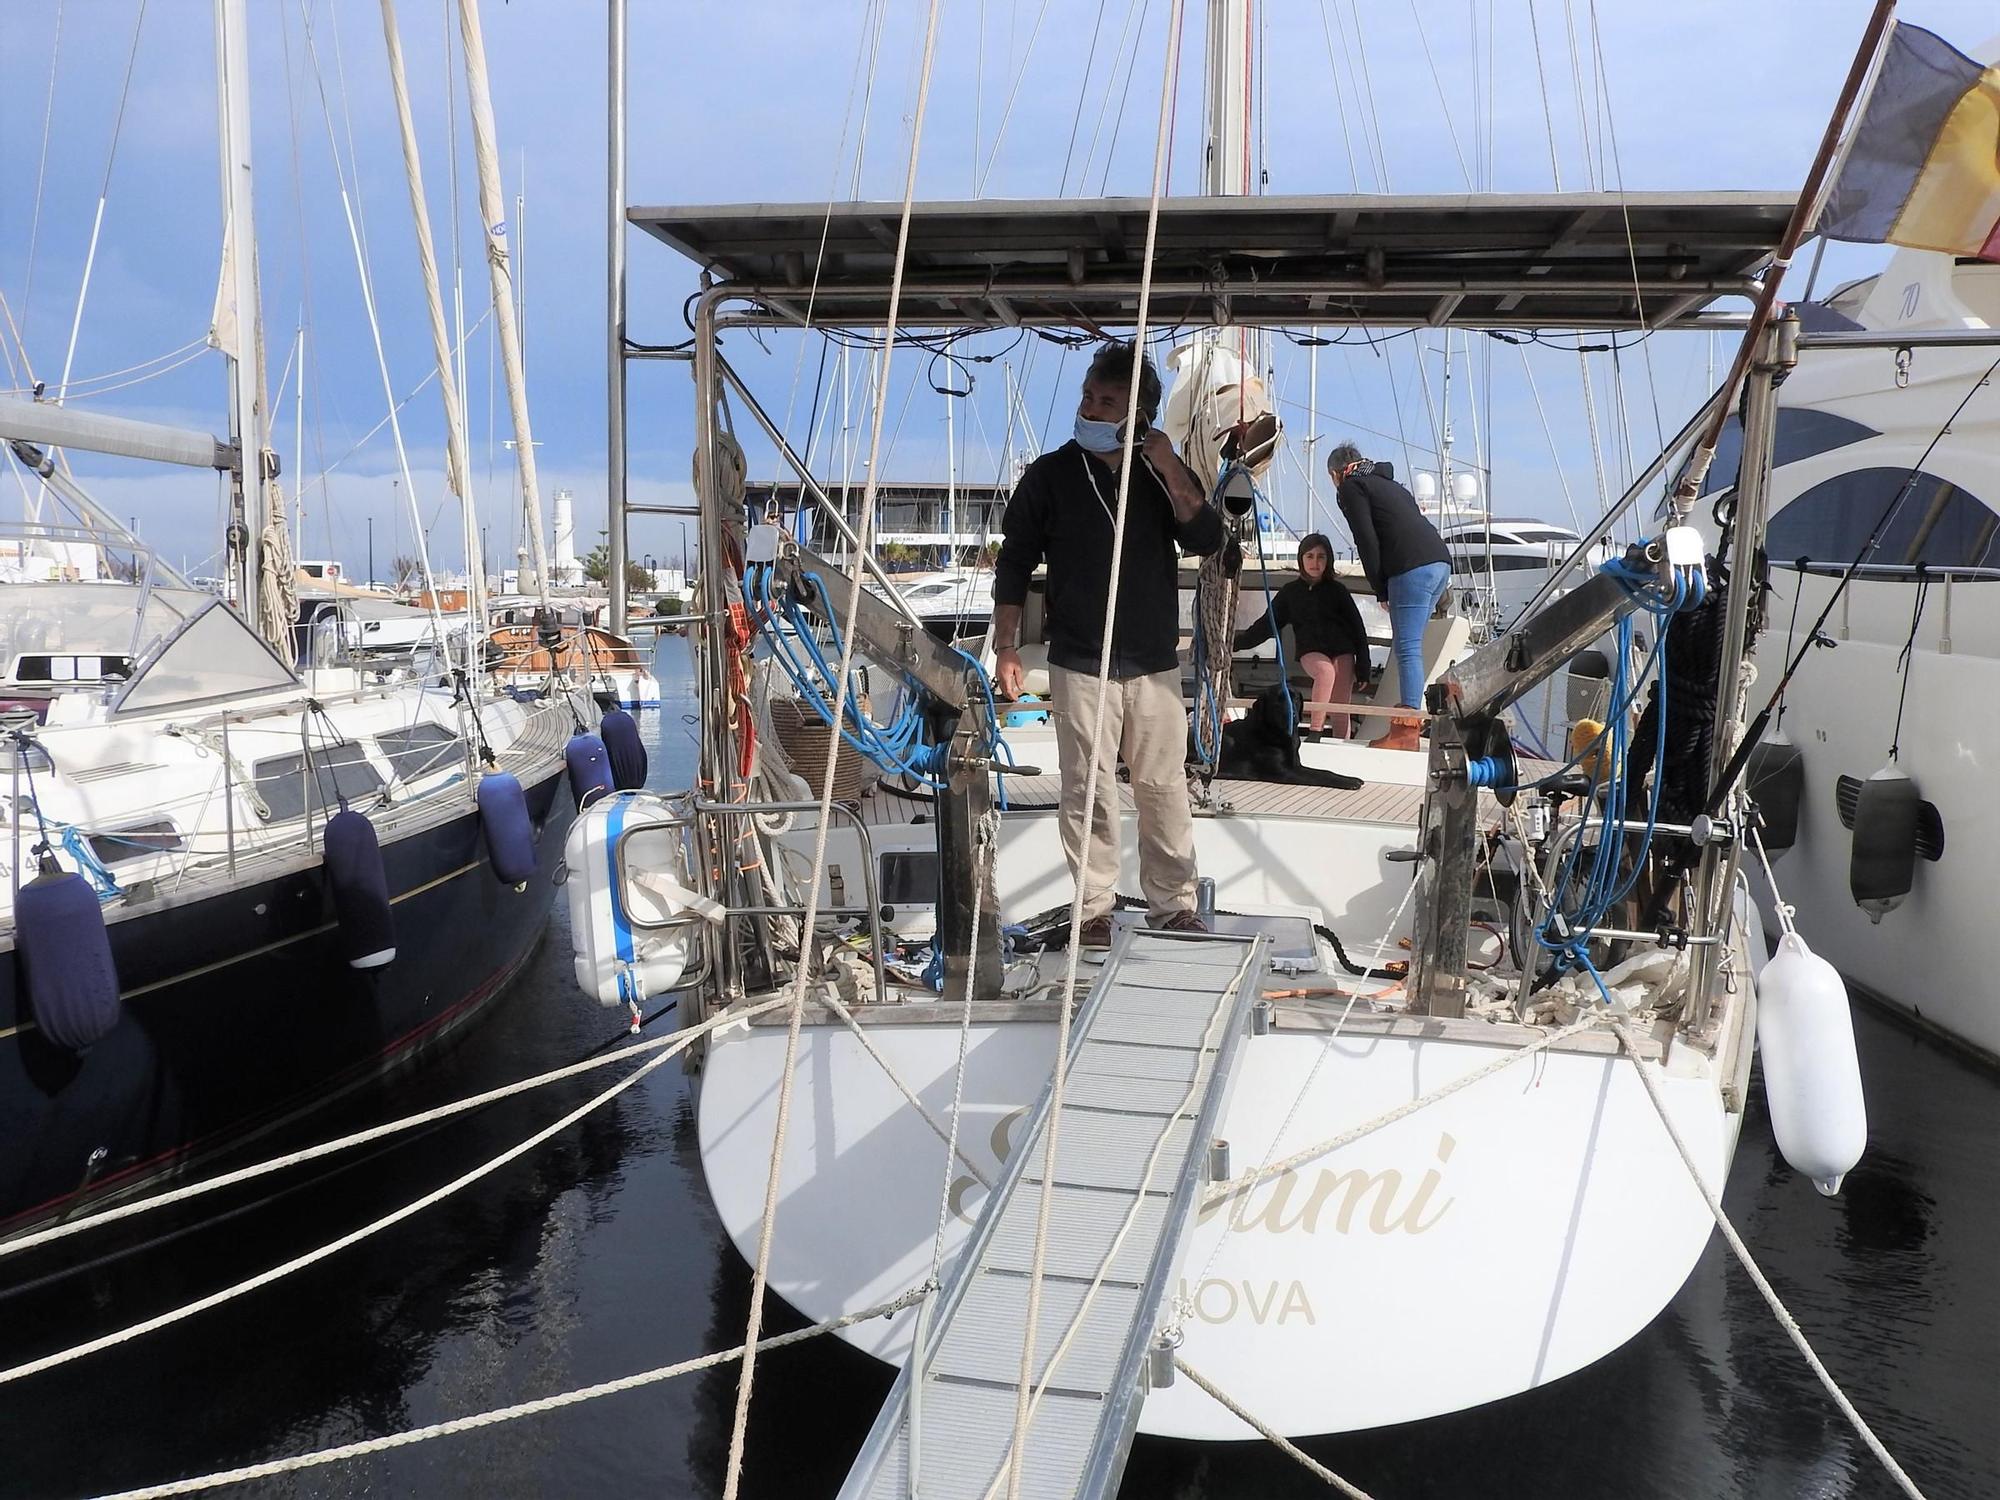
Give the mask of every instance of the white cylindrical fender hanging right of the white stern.
[[1778, 938], [1758, 982], [1756, 1044], [1778, 1150], [1832, 1196], [1868, 1148], [1854, 1016], [1840, 974], [1796, 932]]

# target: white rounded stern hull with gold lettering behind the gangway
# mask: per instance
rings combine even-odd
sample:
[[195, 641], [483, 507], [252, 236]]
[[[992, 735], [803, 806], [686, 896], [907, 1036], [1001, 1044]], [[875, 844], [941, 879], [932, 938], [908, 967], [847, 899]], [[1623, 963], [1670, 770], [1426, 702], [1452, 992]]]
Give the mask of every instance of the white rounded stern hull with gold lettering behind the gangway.
[[[944, 1120], [956, 1026], [868, 1034]], [[1054, 1042], [1052, 1022], [972, 1032], [960, 1140], [988, 1176], [1048, 1080]], [[1420, 1038], [1246, 1038], [1226, 1116], [1234, 1170], [1330, 1138], [1492, 1056], [1492, 1046]], [[756, 1256], [782, 1058], [784, 1028], [762, 1026], [718, 1040], [702, 1072], [702, 1164], [746, 1258]], [[1720, 1184], [1740, 1116], [1722, 1108], [1706, 1070], [1672, 1074], [1668, 1108]], [[944, 1160], [944, 1144], [850, 1032], [808, 1026], [772, 1290], [820, 1320], [922, 1282]], [[946, 1258], [984, 1196], [954, 1166]], [[1176, 1288], [1184, 1356], [1294, 1436], [1478, 1406], [1580, 1370], [1640, 1332], [1692, 1272], [1710, 1226], [1630, 1060], [1544, 1054], [1212, 1210]], [[914, 1312], [904, 1312], [842, 1336], [902, 1362], [912, 1332]], [[1254, 1436], [1192, 1382], [1150, 1394], [1140, 1430]]]

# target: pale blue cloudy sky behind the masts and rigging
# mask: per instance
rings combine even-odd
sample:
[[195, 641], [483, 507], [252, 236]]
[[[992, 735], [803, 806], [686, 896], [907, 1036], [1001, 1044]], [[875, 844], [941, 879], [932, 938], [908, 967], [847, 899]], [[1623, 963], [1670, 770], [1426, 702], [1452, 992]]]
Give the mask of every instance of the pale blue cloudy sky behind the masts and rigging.
[[[486, 308], [486, 276], [472, 254], [476, 190], [462, 82], [448, 84], [446, 0], [402, 0], [398, 10], [432, 222], [446, 260], [454, 218], [448, 88], [458, 106], [458, 222], [468, 250], [466, 320], [474, 324]], [[380, 10], [374, 0], [254, 0], [250, 12], [256, 212], [274, 384], [294, 328], [308, 324], [302, 464], [308, 514], [298, 550], [342, 556], [360, 568], [372, 518], [382, 570], [392, 552], [408, 550], [412, 522], [408, 498], [392, 484], [396, 458], [388, 432], [362, 442], [388, 402], [362, 312], [342, 182], [364, 228], [398, 396], [426, 376], [432, 350]], [[1188, 12], [1176, 192], [1194, 190], [1200, 170], [1202, 6], [1190, 4]], [[1272, 0], [1260, 12], [1270, 192], [1382, 186], [1546, 192], [1554, 168], [1566, 190], [1594, 182], [1606, 188], [1622, 182], [1630, 190], [1790, 190], [1806, 170], [1868, 4], [1536, 0], [1540, 72], [1528, 0]], [[632, 0], [630, 200], [824, 202], [846, 198], [856, 180], [862, 198], [898, 198], [924, 6], [918, 0], [880, 6], [870, 86], [866, 42], [876, 14], [864, 0]], [[1144, 194], [1166, 14], [1166, 0], [946, 4], [920, 196]], [[1900, 14], [1964, 50], [1978, 50], [1994, 26], [1990, 0], [1908, 0]], [[578, 542], [586, 548], [602, 526], [604, 504], [602, 8], [584, 0], [484, 0], [482, 16], [510, 224], [516, 234], [524, 230], [518, 248], [528, 386], [544, 498], [558, 484], [576, 492]], [[1122, 26], [1128, 30], [1120, 32]], [[102, 236], [74, 352], [78, 390], [94, 392], [88, 398], [94, 410], [220, 430], [222, 370], [214, 354], [136, 384], [116, 374], [182, 350], [208, 328], [220, 246], [208, 2], [14, 0], [0, 6], [0, 56], [10, 62], [8, 88], [0, 92], [0, 292], [36, 378], [54, 386], [64, 368], [108, 170]], [[128, 58], [130, 88], [110, 156]], [[1546, 80], [1546, 110], [1538, 78]], [[520, 214], [512, 208], [516, 194], [524, 194]], [[642, 236], [630, 238], [630, 254], [632, 336], [682, 338], [680, 306], [694, 288], [696, 268]], [[1878, 248], [1834, 246], [1820, 290], [1884, 258]], [[450, 274], [446, 266], [448, 282]], [[1794, 274], [1788, 290], [1796, 294], [1804, 272]], [[24, 380], [20, 352], [10, 336], [0, 334], [0, 342], [12, 360], [0, 364], [0, 384], [14, 388]], [[792, 412], [794, 442], [804, 444], [818, 344], [800, 360], [798, 338], [766, 342], [768, 350], [738, 334], [730, 354], [770, 410]], [[1578, 358], [1536, 350], [1524, 362], [1512, 348], [1492, 344], [1488, 352], [1490, 340], [1474, 336], [1474, 342], [1472, 354], [1462, 344], [1454, 352], [1456, 460], [1488, 456], [1502, 512], [1568, 518], [1574, 506], [1588, 518], [1598, 508], [1600, 480]], [[488, 330], [480, 326], [468, 342], [468, 410], [478, 508], [498, 556], [516, 546], [518, 524], [512, 456], [498, 442], [510, 436], [504, 394], [492, 398], [488, 422]], [[1406, 466], [1412, 450], [1428, 448], [1444, 352], [1438, 336], [1422, 340], [1422, 360], [1412, 340], [1400, 340], [1388, 356], [1322, 352], [1318, 426], [1326, 440], [1360, 436], [1372, 452]], [[1718, 346], [1714, 358], [1726, 362], [1728, 348]], [[1622, 472], [1652, 456], [1656, 422], [1672, 432], [1700, 400], [1708, 360], [1706, 336], [1656, 336], [1646, 350], [1620, 356], [1616, 378], [1606, 356], [1592, 358], [1598, 446], [1612, 494], [1622, 488]], [[884, 460], [892, 476], [944, 470], [950, 398], [930, 390], [924, 364], [922, 356], [900, 358], [892, 372], [894, 446]], [[1046, 346], [1032, 360], [1018, 358], [1014, 368], [1026, 384], [1026, 408], [1038, 424], [1054, 412], [1060, 438], [1076, 370], [1064, 370]], [[852, 376], [860, 382], [860, 366]], [[1312, 426], [1304, 410], [1304, 352], [1280, 344], [1276, 380], [1296, 450]], [[1482, 392], [1478, 404], [1464, 400], [1472, 388]], [[1000, 392], [1000, 368], [982, 366], [978, 388], [958, 404], [954, 430], [960, 472], [968, 478], [998, 474], [1006, 424]], [[862, 404], [856, 384], [856, 440], [866, 436]], [[822, 408], [840, 410], [838, 396], [828, 392]], [[278, 448], [296, 474], [292, 430], [286, 396]], [[442, 494], [442, 430], [434, 388], [404, 408], [416, 512], [434, 528], [440, 564], [456, 566], [458, 522]], [[686, 498], [690, 432], [686, 368], [634, 366], [636, 494]], [[820, 466], [838, 476], [832, 456], [838, 432], [822, 426], [818, 444]], [[186, 556], [200, 566], [214, 552], [220, 496], [212, 476], [82, 458], [78, 470], [106, 504], [138, 516], [148, 540], [176, 562]], [[752, 450], [752, 470], [776, 472], [768, 450]], [[1292, 518], [1306, 520], [1302, 476], [1290, 460], [1280, 464], [1274, 484]], [[14, 480], [0, 478], [0, 512], [14, 516], [18, 506]], [[678, 550], [672, 522], [634, 524], [634, 554], [664, 558]]]

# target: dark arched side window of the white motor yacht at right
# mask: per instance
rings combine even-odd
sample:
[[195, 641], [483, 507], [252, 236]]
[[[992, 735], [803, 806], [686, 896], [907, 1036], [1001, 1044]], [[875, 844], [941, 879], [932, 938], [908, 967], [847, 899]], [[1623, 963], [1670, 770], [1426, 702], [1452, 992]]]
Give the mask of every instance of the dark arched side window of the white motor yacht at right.
[[[1936, 474], [1902, 468], [1858, 468], [1814, 484], [1772, 516], [1766, 552], [1776, 564], [1852, 562], [1868, 544], [1882, 512], [1904, 486], [1910, 492], [1864, 562], [1890, 568], [1982, 568], [1996, 562], [2000, 514]], [[1888, 574], [1894, 578], [1896, 574]]]

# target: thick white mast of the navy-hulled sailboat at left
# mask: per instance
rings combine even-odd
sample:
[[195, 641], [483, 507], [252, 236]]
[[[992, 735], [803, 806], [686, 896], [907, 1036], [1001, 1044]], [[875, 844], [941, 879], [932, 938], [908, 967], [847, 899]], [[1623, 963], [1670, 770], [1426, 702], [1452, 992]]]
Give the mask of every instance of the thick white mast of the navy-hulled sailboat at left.
[[210, 338], [222, 350], [230, 386], [230, 440], [240, 466], [230, 484], [230, 584], [236, 608], [262, 632], [264, 400], [256, 376], [258, 296], [256, 218], [250, 176], [250, 40], [244, 0], [216, 0], [216, 104], [222, 146], [222, 294]]

